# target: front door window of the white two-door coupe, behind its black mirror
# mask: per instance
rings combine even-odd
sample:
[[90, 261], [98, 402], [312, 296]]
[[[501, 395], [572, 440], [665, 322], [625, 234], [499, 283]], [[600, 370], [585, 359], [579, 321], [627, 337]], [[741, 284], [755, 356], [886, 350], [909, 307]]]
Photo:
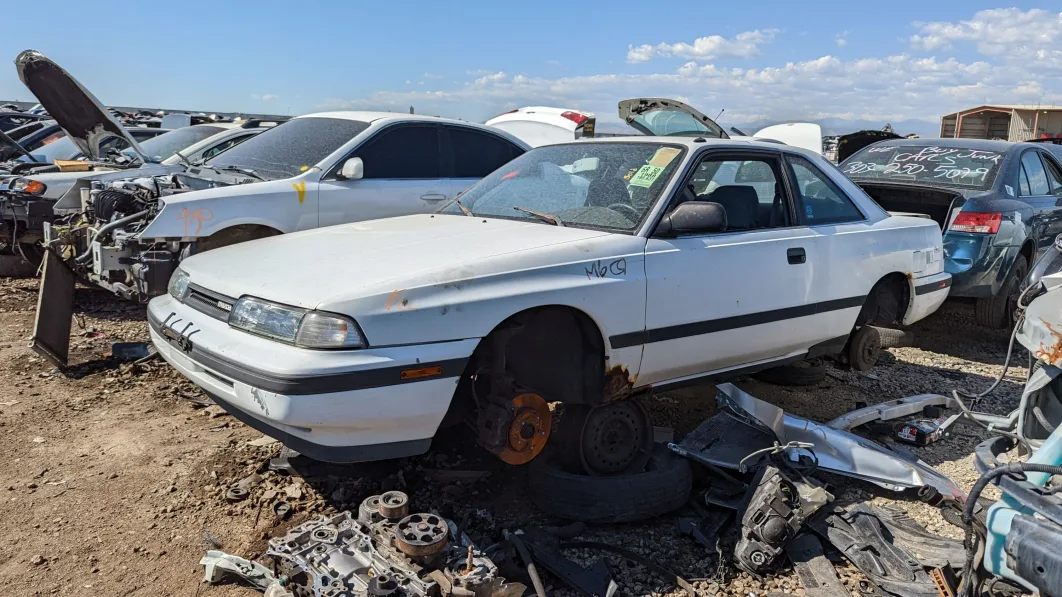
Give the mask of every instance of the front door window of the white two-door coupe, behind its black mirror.
[[775, 157], [707, 156], [683, 191], [685, 201], [709, 201], [726, 210], [726, 232], [790, 224], [788, 200]]

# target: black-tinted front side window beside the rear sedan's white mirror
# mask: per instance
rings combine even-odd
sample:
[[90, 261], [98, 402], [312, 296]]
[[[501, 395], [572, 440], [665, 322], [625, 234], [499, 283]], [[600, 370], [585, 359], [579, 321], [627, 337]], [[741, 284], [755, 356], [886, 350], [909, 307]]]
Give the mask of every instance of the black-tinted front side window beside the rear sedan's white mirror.
[[365, 178], [440, 178], [439, 131], [434, 125], [384, 129], [355, 157], [364, 163]]

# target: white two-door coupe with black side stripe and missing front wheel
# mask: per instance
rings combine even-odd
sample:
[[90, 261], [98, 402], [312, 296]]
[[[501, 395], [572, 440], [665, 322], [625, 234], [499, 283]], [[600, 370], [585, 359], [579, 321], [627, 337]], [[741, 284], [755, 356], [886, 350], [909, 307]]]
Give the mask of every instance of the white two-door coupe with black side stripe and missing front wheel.
[[424, 453], [463, 419], [523, 463], [561, 402], [609, 474], [651, 451], [624, 398], [839, 353], [949, 279], [933, 222], [813, 152], [631, 137], [536, 148], [434, 215], [192, 256], [148, 317], [167, 361], [312, 458]]

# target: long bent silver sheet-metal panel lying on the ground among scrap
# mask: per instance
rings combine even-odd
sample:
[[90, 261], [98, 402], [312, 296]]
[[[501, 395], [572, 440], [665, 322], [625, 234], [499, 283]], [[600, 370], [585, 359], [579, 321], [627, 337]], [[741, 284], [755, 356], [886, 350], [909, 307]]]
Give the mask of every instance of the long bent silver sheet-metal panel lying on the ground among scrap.
[[819, 468], [872, 482], [891, 491], [931, 487], [941, 495], [965, 501], [966, 494], [945, 475], [921, 460], [911, 461], [870, 440], [841, 429], [787, 414], [739, 390], [733, 383], [718, 386], [720, 398], [733, 410], [744, 412], [774, 431], [778, 442], [807, 442], [810, 449], [787, 451], [788, 457], [818, 459]]

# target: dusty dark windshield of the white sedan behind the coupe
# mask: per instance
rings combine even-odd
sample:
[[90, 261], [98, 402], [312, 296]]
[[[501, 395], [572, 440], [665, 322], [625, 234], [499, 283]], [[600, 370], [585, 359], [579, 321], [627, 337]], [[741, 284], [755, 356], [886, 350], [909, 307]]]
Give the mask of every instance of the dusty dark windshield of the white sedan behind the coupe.
[[345, 118], [293, 118], [207, 160], [219, 170], [253, 170], [267, 180], [288, 178], [316, 166], [365, 129]]

